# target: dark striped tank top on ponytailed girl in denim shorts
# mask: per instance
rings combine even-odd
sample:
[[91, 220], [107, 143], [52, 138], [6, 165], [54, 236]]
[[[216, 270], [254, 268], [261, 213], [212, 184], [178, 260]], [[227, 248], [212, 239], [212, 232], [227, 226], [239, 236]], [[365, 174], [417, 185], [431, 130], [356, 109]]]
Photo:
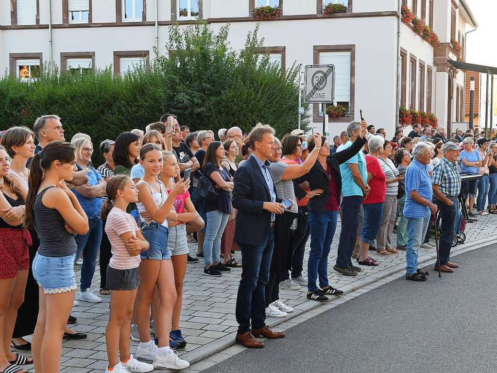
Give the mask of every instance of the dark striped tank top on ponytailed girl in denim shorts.
[[56, 209], [49, 209], [41, 202], [41, 198], [50, 188], [55, 186], [43, 189], [34, 201], [34, 227], [40, 238], [38, 252], [51, 257], [73, 255], [78, 246], [73, 235], [64, 228], [64, 218]]

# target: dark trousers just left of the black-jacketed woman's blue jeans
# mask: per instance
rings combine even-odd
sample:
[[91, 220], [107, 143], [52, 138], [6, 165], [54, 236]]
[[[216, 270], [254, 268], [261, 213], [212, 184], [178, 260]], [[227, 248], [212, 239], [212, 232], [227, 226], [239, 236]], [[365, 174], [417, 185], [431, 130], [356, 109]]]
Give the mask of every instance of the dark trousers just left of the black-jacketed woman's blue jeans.
[[306, 207], [299, 207], [299, 215], [302, 215], [302, 219], [299, 220], [297, 229], [294, 231], [291, 237], [292, 252], [288, 254], [287, 258], [287, 271], [285, 272], [284, 280], [288, 280], [290, 277], [288, 271], [291, 271], [291, 276], [293, 279], [302, 276], [302, 271], [304, 270], [304, 253], [306, 251], [306, 243], [311, 234], [311, 229], [309, 226], [309, 213]]

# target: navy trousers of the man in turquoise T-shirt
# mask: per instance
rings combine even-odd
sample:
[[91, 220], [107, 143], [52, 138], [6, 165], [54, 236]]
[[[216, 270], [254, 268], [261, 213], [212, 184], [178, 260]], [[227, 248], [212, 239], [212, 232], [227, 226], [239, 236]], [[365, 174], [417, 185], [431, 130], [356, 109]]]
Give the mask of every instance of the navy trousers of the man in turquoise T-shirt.
[[348, 196], [343, 197], [340, 205], [342, 216], [338, 256], [336, 258], [336, 265], [338, 267], [346, 268], [352, 265], [350, 258], [352, 257], [352, 251], [355, 246], [361, 203], [362, 196]]

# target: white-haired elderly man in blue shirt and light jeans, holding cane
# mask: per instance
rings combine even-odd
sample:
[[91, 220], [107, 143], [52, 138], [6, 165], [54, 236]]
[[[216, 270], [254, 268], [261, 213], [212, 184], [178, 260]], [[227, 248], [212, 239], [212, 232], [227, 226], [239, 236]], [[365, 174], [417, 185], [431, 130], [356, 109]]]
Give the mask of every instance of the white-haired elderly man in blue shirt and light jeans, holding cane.
[[428, 273], [417, 268], [417, 252], [426, 234], [431, 214], [437, 206], [431, 202], [433, 190], [426, 165], [431, 160], [431, 148], [426, 143], [417, 143], [413, 149], [414, 160], [405, 176], [406, 204], [404, 216], [407, 218], [406, 279], [426, 281]]

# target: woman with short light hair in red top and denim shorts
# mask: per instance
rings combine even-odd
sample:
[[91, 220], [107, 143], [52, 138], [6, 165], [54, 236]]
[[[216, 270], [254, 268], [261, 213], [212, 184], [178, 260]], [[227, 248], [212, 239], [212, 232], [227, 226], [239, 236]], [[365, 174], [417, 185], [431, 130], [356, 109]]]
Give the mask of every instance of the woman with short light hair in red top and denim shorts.
[[[385, 139], [382, 136], [373, 136], [368, 141], [369, 154], [366, 155], [366, 168], [368, 170], [368, 185], [371, 192], [368, 194], [362, 206], [364, 208], [364, 228], [361, 237], [361, 251], [357, 261], [365, 266], [377, 266], [379, 263], [368, 257], [369, 245], [376, 238], [380, 229], [381, 216], [383, 214], [383, 203], [387, 193], [386, 176], [381, 168], [378, 156], [383, 152]], [[377, 251], [380, 255], [389, 256], [386, 250]]]

